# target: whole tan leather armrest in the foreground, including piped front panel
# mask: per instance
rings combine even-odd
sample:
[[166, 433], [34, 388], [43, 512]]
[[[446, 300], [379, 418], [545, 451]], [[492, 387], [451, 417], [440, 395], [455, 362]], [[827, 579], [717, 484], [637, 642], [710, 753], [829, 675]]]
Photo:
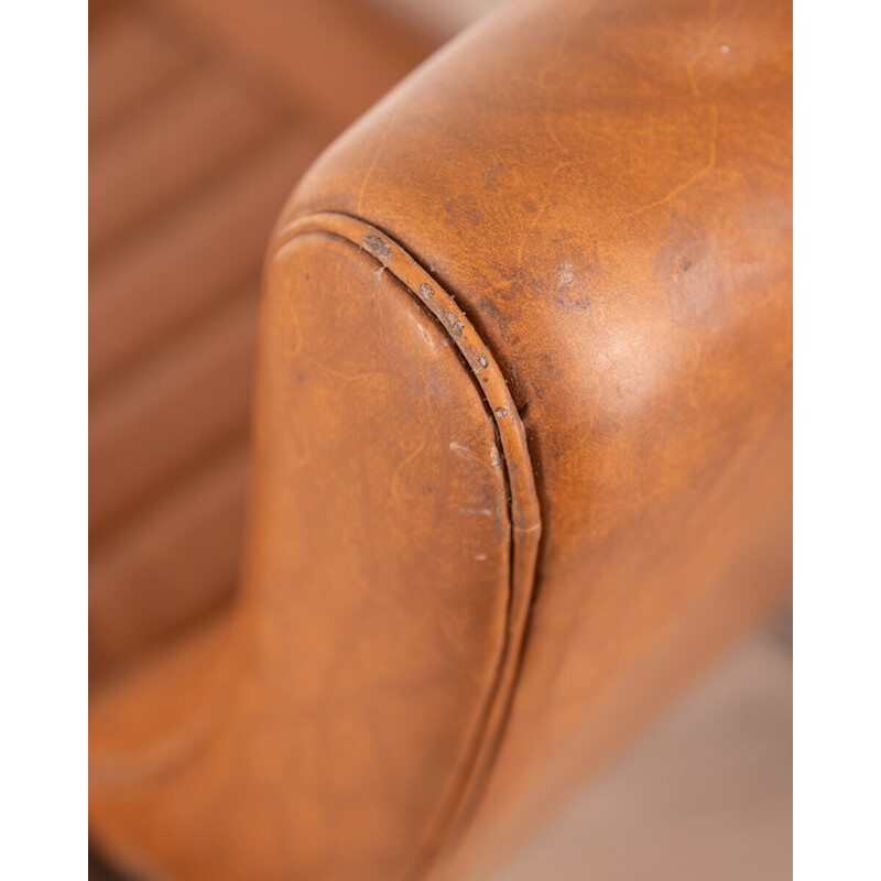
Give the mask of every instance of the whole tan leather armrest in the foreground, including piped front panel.
[[101, 704], [123, 860], [478, 878], [785, 594], [790, 14], [532, 0], [313, 167], [271, 249], [219, 721], [133, 782], [150, 746], [105, 731], [146, 698]]

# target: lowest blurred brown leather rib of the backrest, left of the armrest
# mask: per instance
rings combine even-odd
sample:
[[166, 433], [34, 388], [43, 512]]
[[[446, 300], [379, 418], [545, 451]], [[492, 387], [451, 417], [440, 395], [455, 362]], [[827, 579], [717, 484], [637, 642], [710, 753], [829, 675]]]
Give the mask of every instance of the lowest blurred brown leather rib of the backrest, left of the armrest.
[[246, 479], [247, 449], [230, 449], [90, 555], [90, 678], [230, 598]]

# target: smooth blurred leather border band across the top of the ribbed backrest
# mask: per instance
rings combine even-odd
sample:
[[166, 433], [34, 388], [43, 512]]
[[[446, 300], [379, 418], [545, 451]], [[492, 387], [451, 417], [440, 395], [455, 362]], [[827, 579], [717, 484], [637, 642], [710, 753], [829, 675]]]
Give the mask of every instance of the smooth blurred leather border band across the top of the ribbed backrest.
[[437, 44], [357, 0], [149, 0], [220, 55], [341, 129]]

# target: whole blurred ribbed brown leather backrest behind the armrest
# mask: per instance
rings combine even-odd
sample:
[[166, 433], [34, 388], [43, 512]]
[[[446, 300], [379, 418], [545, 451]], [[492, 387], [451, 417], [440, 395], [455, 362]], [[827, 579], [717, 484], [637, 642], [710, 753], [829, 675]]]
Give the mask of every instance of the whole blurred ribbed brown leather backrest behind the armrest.
[[272, 222], [432, 47], [349, 0], [89, 4], [94, 681], [228, 606]]

